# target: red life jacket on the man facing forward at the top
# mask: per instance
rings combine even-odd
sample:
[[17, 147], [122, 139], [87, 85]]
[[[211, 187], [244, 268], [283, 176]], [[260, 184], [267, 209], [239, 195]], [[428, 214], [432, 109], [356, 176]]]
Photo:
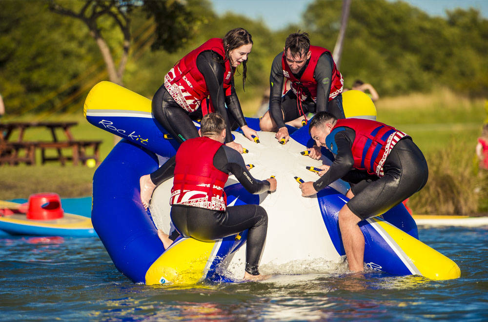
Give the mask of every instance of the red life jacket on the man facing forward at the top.
[[[317, 66], [317, 61], [319, 57], [327, 52], [332, 56], [330, 51], [325, 48], [318, 46], [310, 46], [311, 56], [308, 61], [308, 65], [305, 68], [304, 73], [300, 79], [293, 76], [290, 67], [286, 63], [285, 52], [283, 52], [283, 57], [281, 59], [281, 66], [283, 68], [283, 76], [289, 79], [291, 82], [291, 90], [297, 95], [301, 101], [305, 101], [307, 96], [306, 93], [310, 93], [313, 101], [317, 100], [317, 81], [314, 78], [315, 67]], [[333, 61], [332, 68], [332, 80], [330, 84], [329, 101], [334, 99], [337, 95], [342, 93], [344, 86], [344, 79], [342, 74], [337, 70], [336, 64]], [[306, 90], [305, 90], [306, 89]]]

